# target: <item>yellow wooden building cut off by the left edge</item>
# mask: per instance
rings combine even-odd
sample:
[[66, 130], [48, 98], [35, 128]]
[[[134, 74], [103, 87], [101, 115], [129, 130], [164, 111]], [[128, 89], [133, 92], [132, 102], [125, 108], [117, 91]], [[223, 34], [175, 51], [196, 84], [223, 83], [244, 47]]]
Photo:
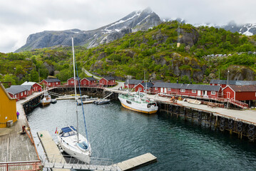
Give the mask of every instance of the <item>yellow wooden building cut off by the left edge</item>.
[[0, 83], [0, 128], [5, 128], [9, 120], [17, 121], [16, 99], [11, 98]]

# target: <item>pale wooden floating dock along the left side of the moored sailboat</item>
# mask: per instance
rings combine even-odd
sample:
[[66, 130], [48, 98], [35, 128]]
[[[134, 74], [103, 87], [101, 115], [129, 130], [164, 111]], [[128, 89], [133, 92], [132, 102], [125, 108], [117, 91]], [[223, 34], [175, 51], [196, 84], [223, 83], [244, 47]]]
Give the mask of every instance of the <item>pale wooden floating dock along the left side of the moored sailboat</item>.
[[[41, 145], [43, 146], [43, 150], [46, 153], [46, 156], [55, 155], [54, 160], [65, 161], [65, 159], [61, 155], [60, 150], [58, 150], [56, 143], [53, 141], [50, 133], [48, 133], [47, 130], [39, 131], [37, 132], [37, 135], [39, 136], [39, 140], [41, 142]], [[58, 169], [58, 168], [52, 168], [52, 170], [53, 171], [61, 171], [61, 170], [69, 171], [68, 169]]]

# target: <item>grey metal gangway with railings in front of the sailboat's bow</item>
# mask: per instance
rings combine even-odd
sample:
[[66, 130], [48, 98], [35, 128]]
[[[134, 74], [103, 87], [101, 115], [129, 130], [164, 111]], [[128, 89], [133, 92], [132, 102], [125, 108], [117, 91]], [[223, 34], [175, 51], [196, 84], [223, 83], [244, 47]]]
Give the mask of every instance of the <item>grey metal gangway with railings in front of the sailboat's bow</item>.
[[43, 155], [41, 163], [46, 168], [74, 169], [74, 170], [108, 170], [121, 171], [117, 165], [113, 165], [111, 159], [100, 159], [91, 157], [90, 164], [77, 160], [71, 155]]

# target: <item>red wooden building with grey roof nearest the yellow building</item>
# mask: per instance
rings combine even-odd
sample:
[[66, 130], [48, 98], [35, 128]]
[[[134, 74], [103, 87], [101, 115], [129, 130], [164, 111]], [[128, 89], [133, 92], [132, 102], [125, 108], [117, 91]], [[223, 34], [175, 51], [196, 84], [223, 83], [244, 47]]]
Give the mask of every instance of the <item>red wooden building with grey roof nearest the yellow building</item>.
[[26, 98], [29, 94], [29, 90], [25, 86], [11, 86], [10, 88], [6, 88], [6, 91], [11, 98], [16, 98], [17, 100]]

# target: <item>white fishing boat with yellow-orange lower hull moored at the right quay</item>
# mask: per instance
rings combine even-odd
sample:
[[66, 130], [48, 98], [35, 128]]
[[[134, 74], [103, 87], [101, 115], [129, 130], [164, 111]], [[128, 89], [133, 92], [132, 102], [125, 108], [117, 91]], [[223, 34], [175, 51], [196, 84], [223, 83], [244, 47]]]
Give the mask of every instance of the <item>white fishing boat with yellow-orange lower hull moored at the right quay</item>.
[[158, 111], [158, 105], [155, 100], [147, 98], [146, 91], [145, 95], [140, 92], [132, 94], [130, 91], [126, 94], [119, 93], [118, 99], [120, 100], [123, 108], [147, 114], [153, 114]]

